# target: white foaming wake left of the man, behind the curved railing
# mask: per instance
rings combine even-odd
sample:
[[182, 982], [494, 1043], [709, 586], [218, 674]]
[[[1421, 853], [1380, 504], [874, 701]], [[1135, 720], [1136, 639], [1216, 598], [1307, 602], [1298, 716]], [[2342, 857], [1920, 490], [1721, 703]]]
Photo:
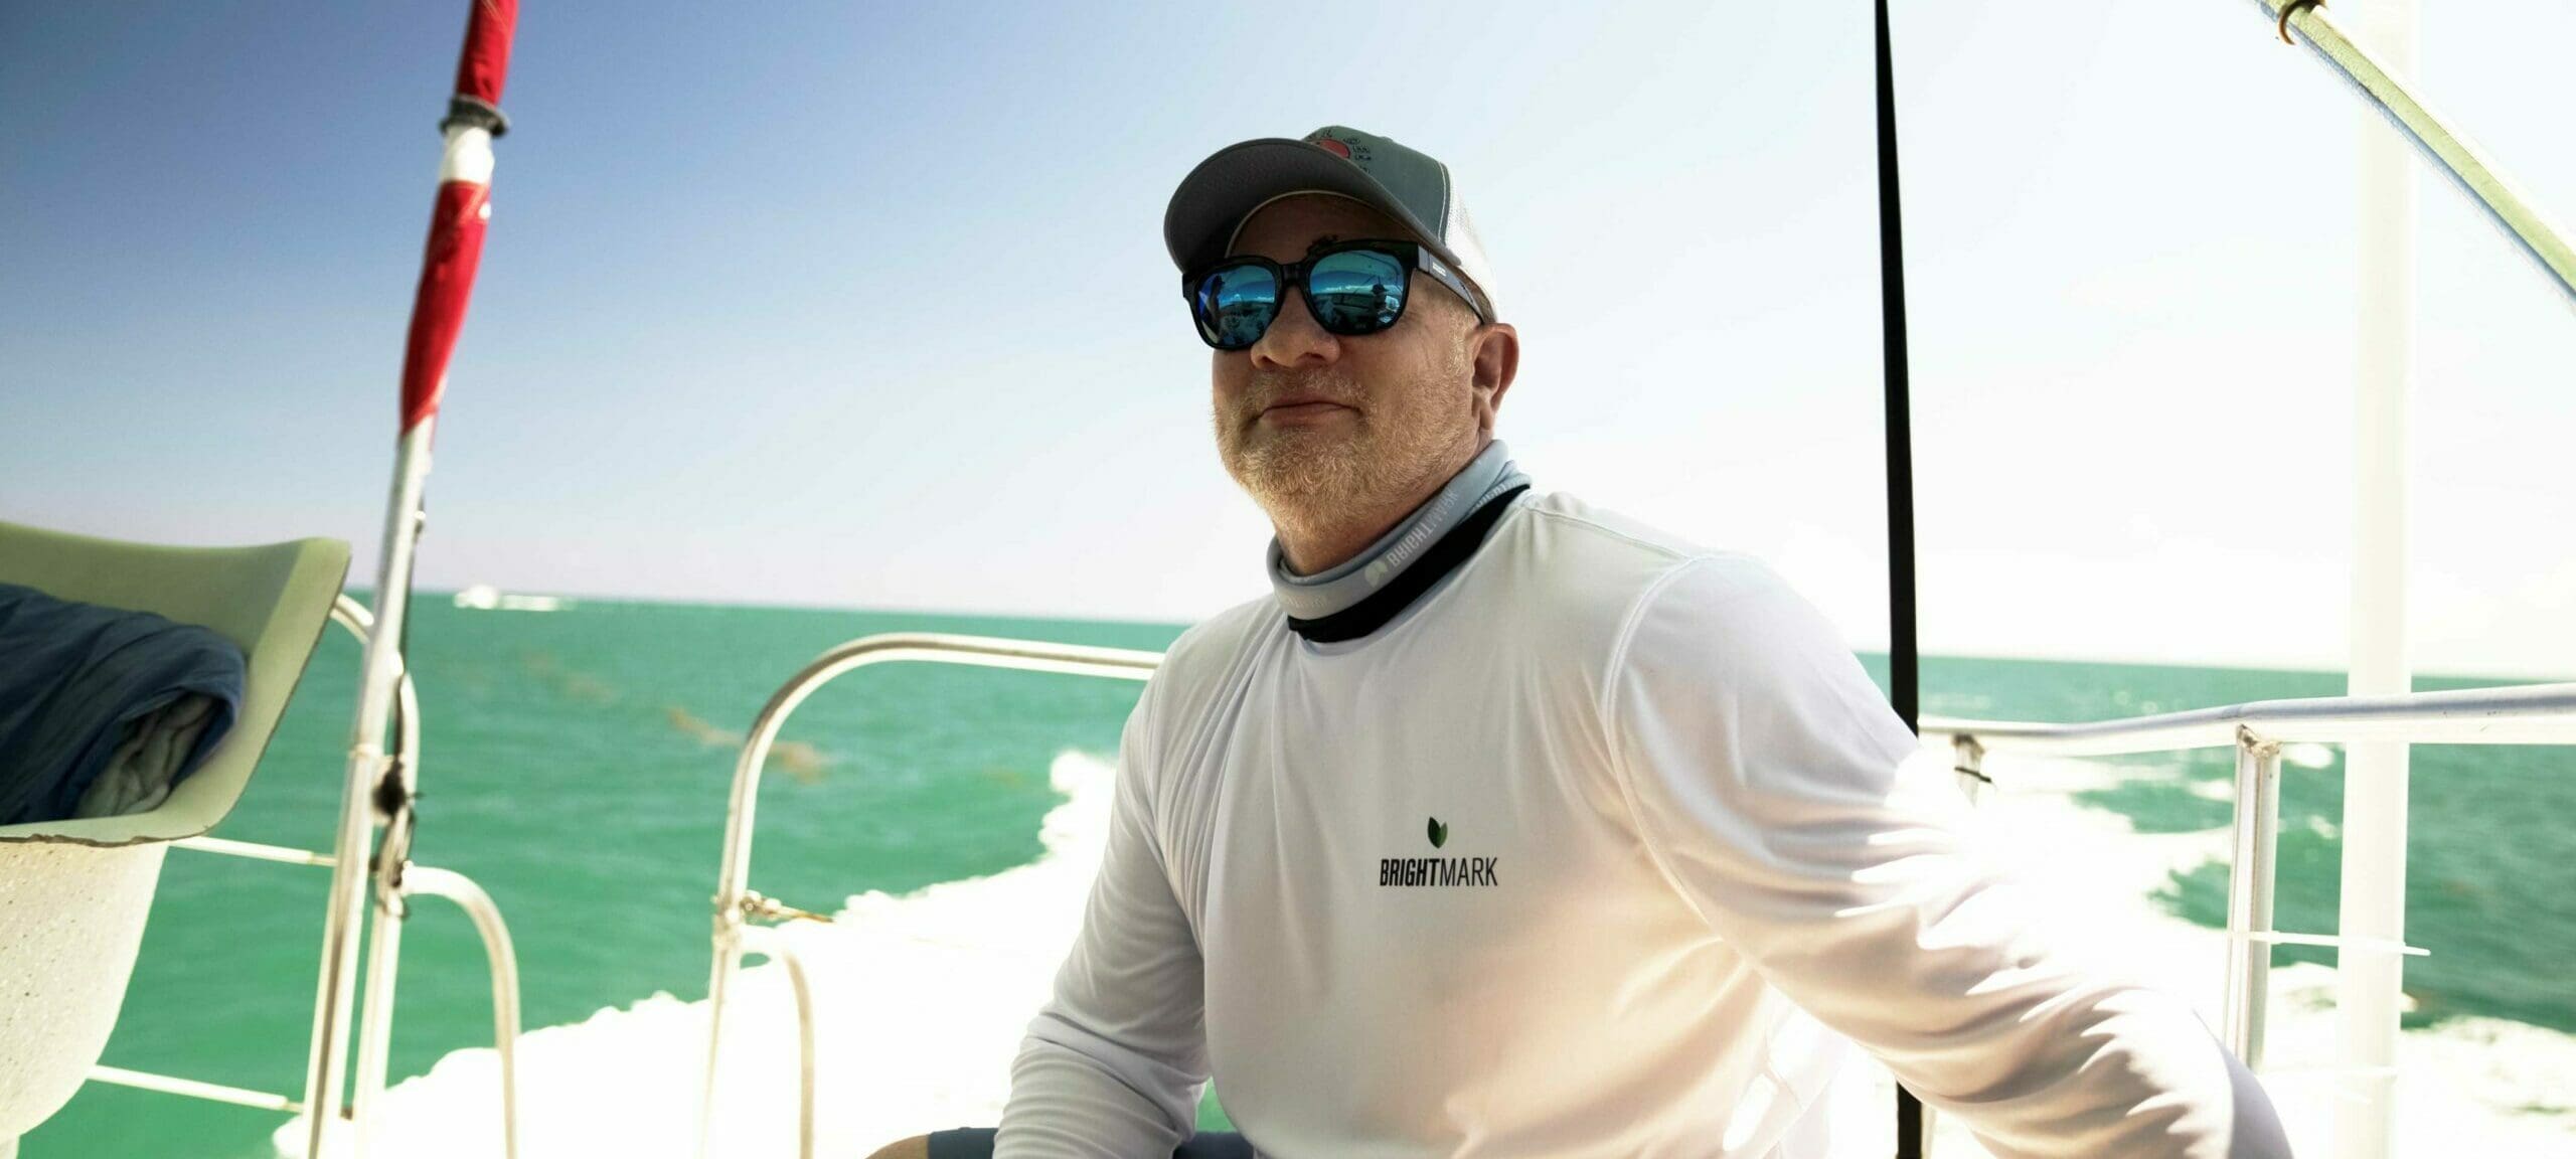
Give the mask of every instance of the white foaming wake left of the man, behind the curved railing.
[[[987, 878], [904, 896], [848, 899], [832, 925], [788, 925], [814, 984], [817, 1154], [866, 1156], [886, 1141], [994, 1123], [1020, 1033], [1082, 922], [1108, 847], [1110, 762], [1064, 752], [1066, 796], [1046, 814], [1046, 853]], [[726, 1002], [716, 1154], [796, 1154], [796, 1015], [786, 971], [747, 966]], [[520, 1038], [520, 1156], [688, 1156], [696, 1138], [706, 1002], [654, 994]], [[500, 1066], [489, 1048], [448, 1053], [381, 1105], [374, 1156], [500, 1156]], [[299, 1120], [301, 1123], [301, 1120]], [[301, 1126], [278, 1154], [301, 1151]]]

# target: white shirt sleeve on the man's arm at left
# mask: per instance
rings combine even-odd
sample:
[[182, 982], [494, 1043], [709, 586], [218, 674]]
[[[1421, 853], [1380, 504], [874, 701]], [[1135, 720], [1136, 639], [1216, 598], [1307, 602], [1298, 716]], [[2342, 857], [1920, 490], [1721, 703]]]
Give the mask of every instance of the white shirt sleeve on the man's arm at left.
[[1054, 997], [1010, 1066], [994, 1159], [1162, 1156], [1198, 1131], [1206, 992], [1154, 840], [1151, 703], [1149, 685], [1118, 742], [1108, 850]]

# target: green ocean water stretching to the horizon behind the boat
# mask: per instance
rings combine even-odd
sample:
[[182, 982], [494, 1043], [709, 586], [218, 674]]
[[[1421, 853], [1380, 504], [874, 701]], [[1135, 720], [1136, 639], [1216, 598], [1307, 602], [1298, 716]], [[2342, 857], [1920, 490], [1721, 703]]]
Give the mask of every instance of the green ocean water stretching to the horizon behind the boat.
[[[484, 613], [420, 600], [412, 664], [425, 716], [425, 791], [415, 860], [477, 878], [502, 907], [518, 945], [523, 1025], [554, 1028], [531, 1038], [531, 1069], [556, 1051], [574, 1059], [572, 1069], [605, 1074], [616, 1051], [605, 1043], [665, 1022], [675, 1030], [659, 1041], [688, 1038], [680, 1022], [685, 1002], [706, 992], [706, 899], [739, 731], [814, 654], [876, 631], [1159, 649], [1180, 628], [654, 603]], [[353, 641], [325, 641], [219, 834], [330, 842], [355, 657]], [[1883, 657], [1865, 662], [1883, 677]], [[2494, 680], [2419, 680], [2419, 688], [2478, 683]], [[1924, 662], [1924, 711], [1950, 716], [2079, 721], [2339, 690], [2342, 677], [2326, 672]], [[1069, 919], [1061, 899], [1079, 889], [1082, 863], [1054, 855], [1079, 847], [1079, 834], [1061, 832], [1066, 796], [1100, 783], [1133, 698], [1131, 683], [930, 664], [842, 677], [799, 711], [770, 762], [752, 881], [788, 904], [871, 917], [878, 943], [848, 961], [853, 971], [886, 963], [871, 974], [886, 979], [881, 986], [976, 979], [971, 971], [989, 956], [938, 950], [976, 935], [958, 930], [961, 922], [1010, 912]], [[2329, 930], [2339, 755], [2290, 757], [2280, 925]], [[2076, 801], [2117, 811], [2148, 834], [2210, 829], [2226, 824], [2228, 775], [2223, 749], [2136, 757], [2115, 762]], [[2576, 873], [2561, 829], [2561, 819], [2576, 816], [2576, 752], [2419, 747], [2411, 811], [2409, 932], [2434, 950], [2409, 961], [2411, 1025], [2501, 1017], [2576, 1033], [2576, 984], [2566, 981], [2566, 963], [2576, 961], [2568, 889]], [[1051, 827], [1043, 842], [1041, 827]], [[1033, 871], [1054, 873], [1054, 883], [1041, 889]], [[314, 868], [173, 853], [106, 1061], [299, 1095], [325, 883]], [[1018, 883], [1030, 894], [992, 901]], [[917, 894], [925, 886], [938, 889]], [[2223, 889], [2223, 865], [2184, 865], [2154, 899], [2172, 914], [2218, 925]], [[912, 896], [948, 901], [907, 909]], [[1010, 953], [1030, 958], [1048, 938], [1036, 940], [1038, 950]], [[2331, 958], [2282, 948], [2275, 961]], [[1030, 974], [1020, 961], [1012, 979], [1043, 976], [1043, 966]], [[482, 950], [443, 901], [415, 907], [397, 1010], [397, 1082], [433, 1066], [471, 1069], [474, 1048], [489, 1046]], [[1007, 1041], [1025, 1007], [989, 1017], [984, 1033]], [[902, 1051], [925, 1059], [922, 1066], [940, 1059], [896, 1033], [850, 1051]], [[981, 1066], [976, 1082], [987, 1087], [997, 1066], [948, 1064]], [[397, 1097], [438, 1092], [443, 1074]], [[600, 1097], [611, 1105], [587, 1115], [629, 1110], [616, 1092]], [[657, 1100], [670, 1102], [670, 1092]], [[415, 1102], [438, 1115], [435, 1102]], [[783, 1118], [786, 1105], [778, 1110]], [[1221, 1110], [1211, 1105], [1206, 1120], [1221, 1123]], [[278, 1128], [281, 1115], [270, 1113], [90, 1084], [26, 1138], [23, 1156], [265, 1159]]]

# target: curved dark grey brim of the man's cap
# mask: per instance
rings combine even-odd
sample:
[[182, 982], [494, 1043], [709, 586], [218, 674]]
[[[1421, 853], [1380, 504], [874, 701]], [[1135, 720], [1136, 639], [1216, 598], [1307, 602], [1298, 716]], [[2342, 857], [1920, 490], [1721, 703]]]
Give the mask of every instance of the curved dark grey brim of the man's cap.
[[1172, 252], [1172, 265], [1180, 273], [1213, 265], [1226, 255], [1226, 242], [1234, 240], [1244, 214], [1285, 193], [1340, 193], [1360, 201], [1412, 229], [1414, 240], [1430, 245], [1440, 260], [1458, 265], [1458, 255], [1440, 242], [1440, 234], [1404, 209], [1386, 185], [1324, 147], [1288, 137], [1229, 144], [1180, 178], [1172, 206], [1162, 214], [1162, 245]]

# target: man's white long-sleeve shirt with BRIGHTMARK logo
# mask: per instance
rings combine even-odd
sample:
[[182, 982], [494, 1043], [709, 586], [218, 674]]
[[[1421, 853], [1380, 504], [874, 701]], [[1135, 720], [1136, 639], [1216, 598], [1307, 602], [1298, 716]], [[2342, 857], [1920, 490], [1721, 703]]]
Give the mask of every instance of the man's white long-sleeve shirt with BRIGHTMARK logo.
[[1275, 1159], [1814, 1159], [1850, 1041], [1999, 1156], [2285, 1156], [1963, 809], [1767, 567], [1525, 495], [1363, 639], [1172, 644], [997, 1156], [1167, 1156], [1213, 1074]]

